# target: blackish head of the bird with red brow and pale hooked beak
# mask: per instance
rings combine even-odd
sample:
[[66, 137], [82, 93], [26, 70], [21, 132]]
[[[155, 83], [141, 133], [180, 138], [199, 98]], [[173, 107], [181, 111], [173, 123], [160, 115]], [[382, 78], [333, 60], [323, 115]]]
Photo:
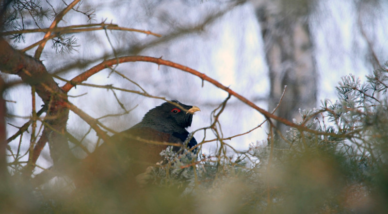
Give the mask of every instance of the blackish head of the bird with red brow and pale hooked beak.
[[196, 106], [189, 106], [177, 100], [172, 100], [149, 110], [144, 115], [141, 124], [159, 132], [183, 133], [186, 131], [185, 128], [191, 126], [193, 115], [197, 111], [200, 111], [200, 109]]

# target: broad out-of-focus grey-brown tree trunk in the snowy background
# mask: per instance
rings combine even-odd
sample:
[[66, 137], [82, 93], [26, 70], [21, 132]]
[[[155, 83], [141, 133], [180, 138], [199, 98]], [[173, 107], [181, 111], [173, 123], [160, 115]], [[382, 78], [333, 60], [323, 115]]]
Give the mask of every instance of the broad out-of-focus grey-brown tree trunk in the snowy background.
[[[288, 120], [301, 119], [299, 109], [316, 107], [317, 70], [308, 26], [310, 1], [266, 0], [256, 6], [269, 67], [271, 91], [269, 110]], [[275, 121], [282, 133], [287, 127]]]

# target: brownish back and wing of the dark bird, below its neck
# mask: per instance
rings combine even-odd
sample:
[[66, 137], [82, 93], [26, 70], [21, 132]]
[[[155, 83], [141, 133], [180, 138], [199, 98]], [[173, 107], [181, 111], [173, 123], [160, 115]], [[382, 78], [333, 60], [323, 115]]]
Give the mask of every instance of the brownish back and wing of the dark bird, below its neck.
[[82, 161], [84, 176], [77, 185], [93, 185], [94, 181], [107, 182], [123, 176], [132, 179], [148, 166], [162, 161], [160, 153], [169, 146], [166, 143], [182, 145], [183, 142], [147, 127], [117, 133]]

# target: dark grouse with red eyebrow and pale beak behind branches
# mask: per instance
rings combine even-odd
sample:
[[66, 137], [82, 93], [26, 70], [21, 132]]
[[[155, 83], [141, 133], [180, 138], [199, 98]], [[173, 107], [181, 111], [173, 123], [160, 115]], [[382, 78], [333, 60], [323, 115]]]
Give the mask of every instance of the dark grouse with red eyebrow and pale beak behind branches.
[[[171, 144], [183, 145], [189, 136], [193, 115], [200, 111], [196, 106], [184, 105], [177, 100], [164, 102], [149, 110], [141, 122], [126, 131], [117, 133], [86, 157], [80, 168], [77, 186], [90, 186], [126, 180], [134, 184], [136, 175], [144, 173], [150, 165], [162, 161], [160, 152]], [[164, 144], [163, 144], [164, 143]], [[191, 138], [187, 147], [197, 144]], [[174, 147], [178, 151], [181, 147]]]

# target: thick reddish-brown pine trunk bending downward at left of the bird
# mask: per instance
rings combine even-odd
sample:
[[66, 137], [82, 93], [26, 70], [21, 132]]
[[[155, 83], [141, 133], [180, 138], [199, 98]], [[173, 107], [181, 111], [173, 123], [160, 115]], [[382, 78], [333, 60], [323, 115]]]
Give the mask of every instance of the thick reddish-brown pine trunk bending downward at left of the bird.
[[[54, 164], [64, 155], [70, 155], [70, 149], [64, 136], [69, 114], [64, 103], [67, 95], [57, 85], [46, 70], [46, 67], [31, 56], [13, 49], [3, 38], [0, 37], [0, 70], [4, 73], [16, 74], [23, 82], [35, 86], [36, 93], [43, 100], [47, 110], [45, 122], [50, 128], [46, 128], [34, 148], [32, 160], [36, 162], [45, 142], [50, 142], [50, 153]], [[36, 156], [36, 157], [35, 157]], [[29, 163], [34, 165], [35, 163]], [[32, 167], [33, 169], [34, 167]]]

